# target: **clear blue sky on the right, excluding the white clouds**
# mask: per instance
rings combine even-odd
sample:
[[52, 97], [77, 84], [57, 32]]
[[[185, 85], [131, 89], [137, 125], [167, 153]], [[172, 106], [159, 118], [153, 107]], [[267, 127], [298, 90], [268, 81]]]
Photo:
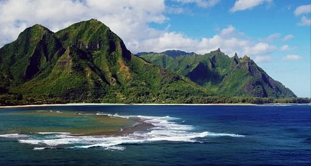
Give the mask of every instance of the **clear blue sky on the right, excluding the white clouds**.
[[[151, 24], [154, 28], [165, 28], [200, 39], [212, 37], [219, 29], [234, 26], [253, 42], [264, 42], [275, 46], [270, 53], [263, 53], [267, 59], [257, 60], [275, 80], [290, 87], [301, 97], [310, 97], [310, 24], [300, 25], [301, 18], [310, 19], [309, 12], [295, 15], [299, 6], [310, 5], [310, 1], [271, 1], [246, 10], [230, 11], [235, 1], [220, 1], [215, 6], [202, 8], [197, 3], [181, 5], [167, 1], [168, 6], [182, 8], [183, 13], [168, 14], [170, 20], [164, 25]], [[290, 39], [284, 39], [288, 36]], [[283, 47], [282, 47], [283, 46]], [[285, 60], [287, 55], [292, 57]], [[232, 56], [232, 55], [230, 55]], [[239, 54], [239, 56], [243, 56]], [[297, 57], [297, 58], [294, 58]], [[256, 59], [256, 57], [252, 57]]]

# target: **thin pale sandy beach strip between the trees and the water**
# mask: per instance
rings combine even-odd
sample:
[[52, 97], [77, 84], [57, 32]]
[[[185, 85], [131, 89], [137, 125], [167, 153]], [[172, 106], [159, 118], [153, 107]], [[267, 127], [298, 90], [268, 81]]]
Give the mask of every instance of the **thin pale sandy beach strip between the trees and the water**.
[[109, 105], [146, 105], [146, 106], [253, 106], [258, 104], [112, 104], [112, 103], [68, 103], [68, 104], [30, 104], [15, 106], [0, 106], [0, 109], [23, 107], [50, 107], [50, 106], [109, 106]]

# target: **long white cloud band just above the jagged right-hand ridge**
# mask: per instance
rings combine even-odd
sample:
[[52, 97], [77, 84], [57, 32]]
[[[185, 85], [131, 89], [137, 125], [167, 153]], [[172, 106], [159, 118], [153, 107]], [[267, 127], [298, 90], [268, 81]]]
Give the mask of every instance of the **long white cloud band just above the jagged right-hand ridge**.
[[[223, 53], [233, 56], [238, 53], [240, 57], [248, 55], [252, 58], [258, 57], [260, 62], [268, 62], [268, 54], [276, 49], [268, 43], [252, 42], [243, 33], [239, 32], [234, 26], [223, 28], [213, 37], [203, 37], [201, 39], [191, 39], [181, 33], [163, 33], [160, 37], [136, 41], [128, 45], [132, 50], [162, 52], [168, 49], [179, 49], [185, 51], [194, 51], [195, 53], [209, 53], [211, 50], [221, 48]], [[135, 51], [134, 51], [135, 53]], [[263, 58], [265, 60], [263, 60]], [[271, 60], [271, 59], [270, 59]]]

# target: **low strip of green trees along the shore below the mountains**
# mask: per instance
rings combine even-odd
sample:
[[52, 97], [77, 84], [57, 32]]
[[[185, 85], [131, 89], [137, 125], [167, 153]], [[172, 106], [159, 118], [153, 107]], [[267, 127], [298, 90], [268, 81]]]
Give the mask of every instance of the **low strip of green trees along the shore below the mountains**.
[[[150, 94], [149, 91], [137, 92], [131, 95], [129, 98], [123, 97], [121, 93], [118, 98], [114, 98], [114, 95], [107, 95], [102, 100], [83, 100], [83, 102], [92, 103], [158, 103], [158, 104], [301, 104], [310, 103], [310, 98], [254, 98], [254, 97], [232, 97], [232, 96], [200, 96], [200, 95], [172, 95], [161, 93]], [[173, 97], [173, 98], [172, 98]], [[72, 102], [82, 102], [77, 99], [57, 98], [44, 95], [21, 95], [21, 94], [1, 94], [0, 105], [19, 105], [19, 104], [65, 104]]]

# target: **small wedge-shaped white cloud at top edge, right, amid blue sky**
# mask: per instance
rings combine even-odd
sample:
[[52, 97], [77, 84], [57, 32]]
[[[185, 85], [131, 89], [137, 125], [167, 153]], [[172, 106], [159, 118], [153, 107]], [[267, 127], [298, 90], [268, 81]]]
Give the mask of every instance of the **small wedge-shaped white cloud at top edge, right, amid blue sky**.
[[237, 0], [234, 2], [234, 6], [230, 9], [230, 12], [249, 10], [263, 3], [272, 3], [272, 0]]

